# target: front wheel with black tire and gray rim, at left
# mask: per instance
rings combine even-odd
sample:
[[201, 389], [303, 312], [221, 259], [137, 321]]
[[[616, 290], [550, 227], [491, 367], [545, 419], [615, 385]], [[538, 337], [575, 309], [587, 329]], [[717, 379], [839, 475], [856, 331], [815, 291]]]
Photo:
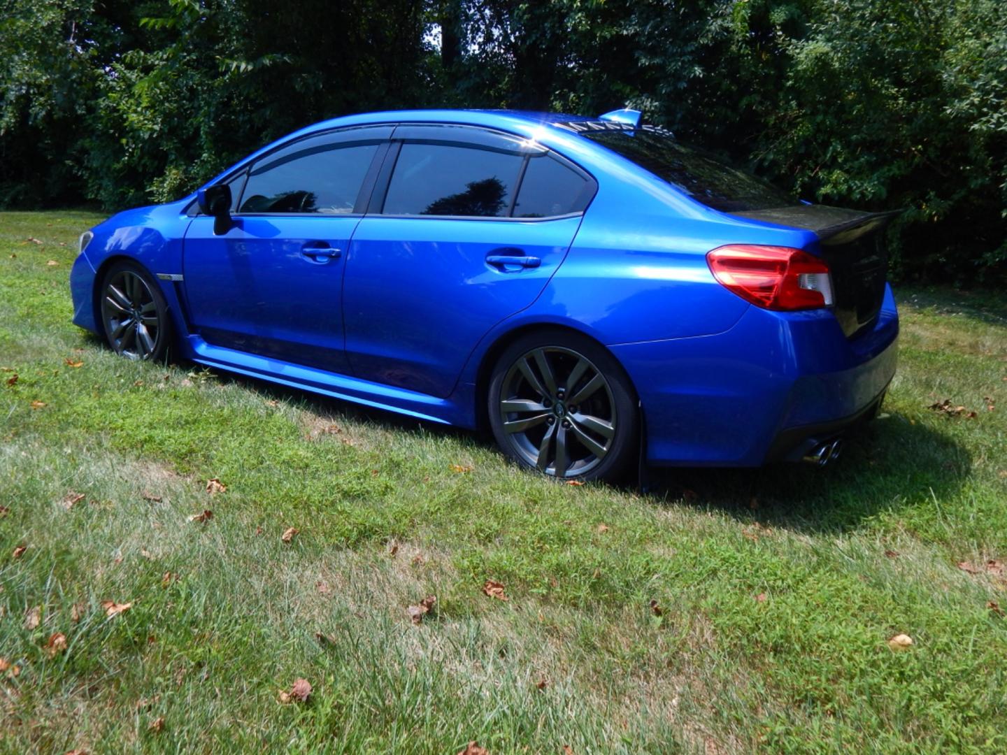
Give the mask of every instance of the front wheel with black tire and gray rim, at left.
[[115, 263], [102, 276], [98, 295], [102, 328], [113, 351], [130, 359], [167, 357], [171, 315], [150, 273], [135, 263]]

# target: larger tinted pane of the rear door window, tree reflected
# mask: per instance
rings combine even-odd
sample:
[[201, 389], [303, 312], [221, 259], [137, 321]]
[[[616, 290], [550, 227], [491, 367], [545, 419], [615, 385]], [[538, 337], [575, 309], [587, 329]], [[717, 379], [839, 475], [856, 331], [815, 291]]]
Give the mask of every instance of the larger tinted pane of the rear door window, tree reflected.
[[502, 216], [524, 157], [448, 144], [403, 144], [385, 214]]

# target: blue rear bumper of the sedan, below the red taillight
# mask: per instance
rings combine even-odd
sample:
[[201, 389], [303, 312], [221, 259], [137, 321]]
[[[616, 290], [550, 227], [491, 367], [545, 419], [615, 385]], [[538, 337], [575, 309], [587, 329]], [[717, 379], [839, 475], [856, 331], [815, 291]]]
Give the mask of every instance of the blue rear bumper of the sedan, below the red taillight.
[[869, 414], [895, 373], [897, 340], [886, 288], [876, 324], [852, 340], [828, 310], [750, 307], [718, 335], [610, 348], [639, 395], [650, 463], [758, 466]]

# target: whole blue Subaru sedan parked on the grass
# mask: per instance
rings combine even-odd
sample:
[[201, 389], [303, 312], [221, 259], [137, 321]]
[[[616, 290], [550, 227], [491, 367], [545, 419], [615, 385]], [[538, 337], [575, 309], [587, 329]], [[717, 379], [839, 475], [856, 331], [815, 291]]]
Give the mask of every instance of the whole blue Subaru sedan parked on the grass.
[[487, 427], [559, 478], [824, 464], [895, 371], [889, 216], [795, 202], [635, 111], [357, 115], [84, 234], [74, 322]]

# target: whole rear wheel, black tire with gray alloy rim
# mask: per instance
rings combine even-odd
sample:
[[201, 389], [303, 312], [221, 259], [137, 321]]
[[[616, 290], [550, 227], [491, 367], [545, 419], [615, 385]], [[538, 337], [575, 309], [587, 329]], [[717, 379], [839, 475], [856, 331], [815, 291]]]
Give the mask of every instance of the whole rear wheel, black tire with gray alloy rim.
[[486, 398], [496, 444], [524, 467], [614, 482], [636, 461], [632, 384], [587, 336], [559, 329], [521, 336], [496, 359]]

